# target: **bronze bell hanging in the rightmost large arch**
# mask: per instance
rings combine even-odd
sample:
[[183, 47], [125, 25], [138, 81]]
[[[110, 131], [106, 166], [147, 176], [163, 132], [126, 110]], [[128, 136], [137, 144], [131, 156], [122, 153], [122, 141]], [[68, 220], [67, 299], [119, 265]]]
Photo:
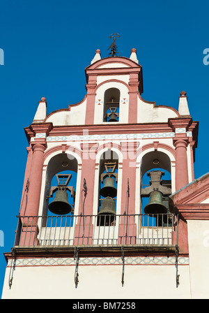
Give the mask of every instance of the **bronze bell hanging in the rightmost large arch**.
[[164, 214], [167, 213], [167, 207], [162, 201], [162, 193], [160, 191], [150, 192], [150, 201], [144, 208], [145, 214]]

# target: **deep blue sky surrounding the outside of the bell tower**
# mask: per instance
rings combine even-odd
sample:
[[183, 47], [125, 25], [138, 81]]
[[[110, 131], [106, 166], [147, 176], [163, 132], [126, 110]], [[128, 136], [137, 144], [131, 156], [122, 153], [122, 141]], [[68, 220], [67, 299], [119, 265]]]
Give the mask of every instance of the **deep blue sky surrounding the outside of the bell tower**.
[[[117, 32], [118, 51], [137, 49], [147, 101], [178, 109], [185, 90], [189, 111], [199, 121], [195, 177], [209, 172], [208, 1], [8, 0], [0, 3], [1, 219], [0, 291], [13, 247], [26, 165], [24, 127], [42, 96], [47, 110], [67, 108], [84, 98], [84, 68], [95, 50], [107, 57], [109, 35]], [[14, 278], [15, 279], [15, 278]], [[0, 292], [1, 293], [1, 292]]]

